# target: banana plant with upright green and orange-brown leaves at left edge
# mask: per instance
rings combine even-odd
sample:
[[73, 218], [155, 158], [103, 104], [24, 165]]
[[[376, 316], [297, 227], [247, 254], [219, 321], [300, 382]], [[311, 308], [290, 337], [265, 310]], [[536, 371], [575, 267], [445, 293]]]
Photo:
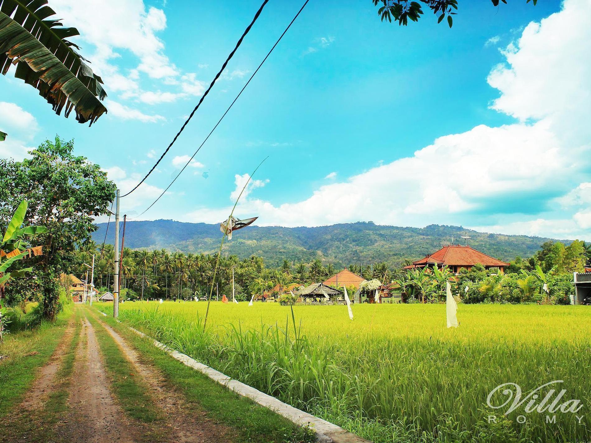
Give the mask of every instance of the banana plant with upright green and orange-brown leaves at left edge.
[[46, 232], [43, 226], [26, 226], [22, 228], [22, 222], [27, 214], [28, 202], [23, 200], [18, 205], [17, 211], [12, 216], [6, 232], [2, 237], [0, 244], [0, 298], [4, 295], [4, 287], [9, 279], [24, 276], [25, 272], [32, 271], [28, 267], [20, 270], [13, 270], [11, 267], [24, 257], [41, 254], [41, 246], [31, 247], [30, 242], [25, 237], [34, 237], [35, 235]]

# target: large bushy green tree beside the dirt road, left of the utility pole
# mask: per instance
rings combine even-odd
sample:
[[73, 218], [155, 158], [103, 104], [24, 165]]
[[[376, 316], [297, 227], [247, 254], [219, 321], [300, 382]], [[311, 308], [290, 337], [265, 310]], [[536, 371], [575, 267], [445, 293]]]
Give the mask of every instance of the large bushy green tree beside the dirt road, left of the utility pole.
[[57, 277], [70, 273], [76, 248], [96, 230], [95, 217], [106, 214], [116, 186], [85, 157], [73, 155], [73, 141], [59, 137], [31, 151], [31, 159], [0, 159], [0, 224], [8, 221], [22, 199], [29, 202], [25, 224], [44, 225], [43, 256], [37, 257], [43, 315], [59, 311]]

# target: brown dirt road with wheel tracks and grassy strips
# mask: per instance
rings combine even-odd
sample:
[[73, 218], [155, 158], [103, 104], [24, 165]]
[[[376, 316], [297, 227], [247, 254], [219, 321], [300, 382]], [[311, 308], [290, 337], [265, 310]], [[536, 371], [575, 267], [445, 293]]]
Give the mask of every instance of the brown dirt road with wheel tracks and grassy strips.
[[[32, 389], [18, 410], [9, 414], [2, 423], [4, 429], [11, 429], [4, 435], [5, 438], [9, 438], [8, 441], [232, 441], [232, 429], [213, 422], [202, 410], [189, 405], [182, 395], [171, 389], [157, 368], [142, 360], [141, 355], [121, 335], [102, 322], [102, 319], [96, 318], [85, 306], [77, 306], [76, 309], [79, 314], [76, 322], [82, 324], [73, 366], [70, 360], [70, 373], [66, 374], [64, 379], [60, 379], [60, 369], [64, 372], [63, 368], [66, 365], [66, 350], [69, 346], [72, 348], [70, 343], [78, 326], [74, 321], [48, 364], [41, 368]], [[98, 322], [93, 320], [93, 325], [88, 316]], [[117, 388], [113, 384], [112, 376], [106, 371], [104, 350], [100, 348], [104, 340], [97, 339], [95, 328], [106, 328], [124, 358], [137, 371], [138, 383], [147, 390], [150, 407], [157, 411], [157, 420], [144, 423], [126, 415], [118, 402]]]

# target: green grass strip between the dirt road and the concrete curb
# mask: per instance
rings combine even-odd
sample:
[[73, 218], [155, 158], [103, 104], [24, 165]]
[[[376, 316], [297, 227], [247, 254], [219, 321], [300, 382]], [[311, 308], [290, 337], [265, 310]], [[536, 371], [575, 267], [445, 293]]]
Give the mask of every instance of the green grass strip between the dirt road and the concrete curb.
[[236, 442], [315, 441], [309, 430], [294, 425], [277, 413], [239, 396], [204, 374], [185, 366], [112, 317], [104, 317], [100, 313], [99, 317], [124, 337], [138, 351], [145, 363], [157, 367], [164, 374], [171, 389], [182, 393], [188, 403], [204, 410], [214, 421], [233, 428], [238, 437]]

